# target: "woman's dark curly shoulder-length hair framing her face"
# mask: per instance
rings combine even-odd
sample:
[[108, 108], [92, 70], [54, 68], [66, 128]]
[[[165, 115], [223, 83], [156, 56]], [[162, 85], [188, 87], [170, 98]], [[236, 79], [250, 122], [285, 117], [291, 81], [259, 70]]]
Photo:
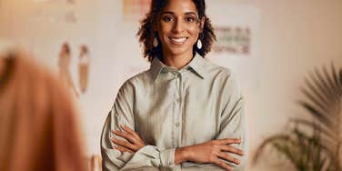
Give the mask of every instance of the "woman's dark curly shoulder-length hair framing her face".
[[[206, 16], [206, 2], [205, 0], [192, 0], [196, 5], [196, 10], [199, 18], [205, 17], [202, 33], [199, 34], [199, 39], [202, 41], [202, 48], [198, 49], [196, 45], [193, 46], [194, 53], [205, 57], [210, 52], [211, 47], [216, 41], [214, 27], [211, 25], [210, 19]], [[137, 32], [139, 43], [144, 47], [144, 57], [151, 62], [156, 56], [162, 55], [162, 46], [159, 43], [156, 47], [153, 45], [153, 40], [157, 33], [155, 32], [155, 25], [158, 15], [166, 7], [169, 0], [152, 0], [150, 11], [146, 14], [146, 18], [142, 20], [140, 28]], [[159, 41], [159, 40], [158, 40]]]

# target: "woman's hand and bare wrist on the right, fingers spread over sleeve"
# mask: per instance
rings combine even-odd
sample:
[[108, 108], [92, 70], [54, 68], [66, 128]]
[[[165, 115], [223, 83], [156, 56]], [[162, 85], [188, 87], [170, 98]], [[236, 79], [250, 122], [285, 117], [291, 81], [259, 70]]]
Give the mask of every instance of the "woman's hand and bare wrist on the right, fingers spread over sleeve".
[[224, 161], [220, 160], [220, 158], [239, 165], [240, 161], [237, 158], [230, 156], [228, 153], [244, 156], [244, 152], [242, 150], [237, 149], [234, 146], [230, 146], [232, 144], [240, 143], [241, 139], [226, 138], [212, 140], [194, 146], [176, 148], [175, 164], [177, 165], [184, 161], [191, 161], [201, 164], [212, 163], [216, 164], [217, 166], [221, 166], [226, 170], [232, 170], [233, 168], [227, 165]]

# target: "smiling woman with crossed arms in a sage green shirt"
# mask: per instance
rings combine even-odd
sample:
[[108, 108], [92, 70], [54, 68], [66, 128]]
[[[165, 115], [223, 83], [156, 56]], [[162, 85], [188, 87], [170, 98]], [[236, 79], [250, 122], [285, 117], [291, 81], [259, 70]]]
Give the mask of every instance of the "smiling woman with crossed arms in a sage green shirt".
[[[204, 0], [153, 0], [138, 32], [151, 67], [120, 88], [102, 133], [103, 170], [244, 170], [244, 100]], [[181, 164], [181, 165], [180, 165]]]

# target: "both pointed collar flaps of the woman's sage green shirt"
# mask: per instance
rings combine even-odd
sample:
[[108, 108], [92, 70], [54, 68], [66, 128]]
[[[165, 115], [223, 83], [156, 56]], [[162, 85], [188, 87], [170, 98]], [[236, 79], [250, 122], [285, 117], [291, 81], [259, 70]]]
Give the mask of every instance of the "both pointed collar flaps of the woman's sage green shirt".
[[[192, 72], [194, 72], [196, 75], [204, 79], [204, 77], [206, 76], [205, 63], [206, 63], [206, 59], [204, 59], [201, 55], [196, 53], [194, 58], [184, 68], [185, 69], [190, 68]], [[154, 81], [156, 81], [156, 79], [158, 78], [162, 70], [166, 67], [167, 66], [163, 64], [163, 62], [161, 62], [158, 57], [155, 57], [152, 60], [150, 70], [151, 70], [152, 78]]]

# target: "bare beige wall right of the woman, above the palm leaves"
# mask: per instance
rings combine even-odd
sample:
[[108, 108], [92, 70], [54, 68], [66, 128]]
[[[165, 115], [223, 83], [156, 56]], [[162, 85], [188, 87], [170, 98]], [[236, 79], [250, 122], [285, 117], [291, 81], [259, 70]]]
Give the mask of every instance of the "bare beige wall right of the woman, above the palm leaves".
[[289, 116], [304, 116], [295, 101], [301, 97], [298, 88], [309, 70], [331, 62], [342, 66], [342, 2], [229, 2], [255, 5], [262, 13], [257, 40], [261, 85], [256, 92], [245, 92], [253, 154], [263, 137], [284, 128]]

